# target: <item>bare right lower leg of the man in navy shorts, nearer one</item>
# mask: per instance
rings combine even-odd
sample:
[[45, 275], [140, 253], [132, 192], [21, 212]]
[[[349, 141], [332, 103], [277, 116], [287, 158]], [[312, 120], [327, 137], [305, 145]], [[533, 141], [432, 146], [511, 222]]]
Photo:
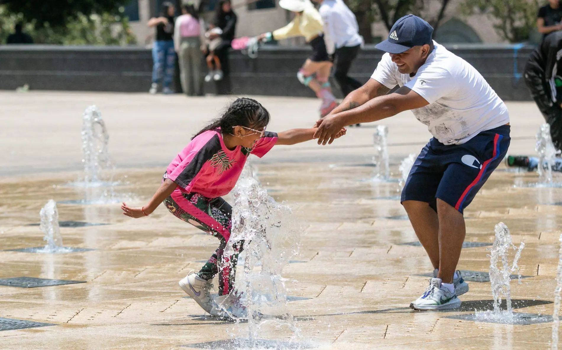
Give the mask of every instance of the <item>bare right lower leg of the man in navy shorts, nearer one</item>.
[[437, 199], [437, 215], [439, 217], [439, 273], [443, 283], [453, 283], [460, 251], [463, 248], [466, 228], [464, 217], [447, 202]]

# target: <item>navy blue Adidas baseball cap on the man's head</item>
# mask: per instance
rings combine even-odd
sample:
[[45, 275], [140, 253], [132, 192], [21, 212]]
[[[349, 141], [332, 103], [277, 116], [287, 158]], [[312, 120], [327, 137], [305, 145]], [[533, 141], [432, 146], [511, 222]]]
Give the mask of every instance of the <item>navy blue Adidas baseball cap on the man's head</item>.
[[375, 48], [388, 53], [402, 53], [418, 45], [431, 43], [433, 27], [418, 16], [406, 15], [392, 26], [388, 39]]

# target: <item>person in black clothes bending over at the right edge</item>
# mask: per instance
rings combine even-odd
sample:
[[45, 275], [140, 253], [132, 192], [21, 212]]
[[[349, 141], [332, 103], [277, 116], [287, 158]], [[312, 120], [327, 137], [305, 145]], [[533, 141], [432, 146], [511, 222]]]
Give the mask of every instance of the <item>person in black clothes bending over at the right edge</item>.
[[552, 143], [562, 149], [562, 31], [546, 36], [529, 57], [523, 76], [534, 102], [550, 125]]

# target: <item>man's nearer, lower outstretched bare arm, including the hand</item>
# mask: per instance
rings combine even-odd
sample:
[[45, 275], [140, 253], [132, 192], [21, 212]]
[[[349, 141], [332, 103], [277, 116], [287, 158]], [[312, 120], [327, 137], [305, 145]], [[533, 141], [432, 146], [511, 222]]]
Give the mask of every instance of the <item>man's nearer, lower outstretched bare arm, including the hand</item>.
[[356, 108], [329, 114], [319, 121], [315, 137], [318, 138], [318, 144], [331, 144], [345, 125], [379, 121], [404, 110], [421, 108], [428, 104], [422, 96], [402, 86], [395, 93], [378, 96]]

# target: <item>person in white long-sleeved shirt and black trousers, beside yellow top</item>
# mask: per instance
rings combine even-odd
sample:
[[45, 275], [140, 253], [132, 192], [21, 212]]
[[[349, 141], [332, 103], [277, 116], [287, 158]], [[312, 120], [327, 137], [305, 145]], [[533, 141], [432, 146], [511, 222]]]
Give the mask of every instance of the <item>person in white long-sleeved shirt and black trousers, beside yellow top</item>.
[[345, 97], [362, 85], [347, 75], [363, 44], [363, 38], [359, 35], [359, 24], [342, 0], [314, 2], [320, 3], [318, 11], [323, 21], [326, 50], [330, 61], [335, 62], [334, 78]]

